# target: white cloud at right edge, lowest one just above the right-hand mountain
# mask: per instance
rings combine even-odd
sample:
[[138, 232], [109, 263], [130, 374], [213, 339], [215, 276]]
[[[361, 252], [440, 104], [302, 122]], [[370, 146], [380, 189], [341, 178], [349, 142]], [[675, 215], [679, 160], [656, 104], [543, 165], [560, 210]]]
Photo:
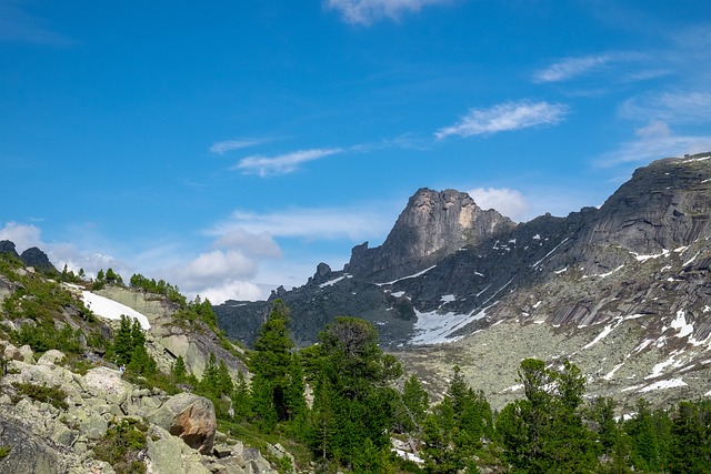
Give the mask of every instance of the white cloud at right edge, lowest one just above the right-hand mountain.
[[682, 157], [711, 150], [711, 137], [675, 135], [660, 120], [634, 131], [633, 141], [602, 155], [598, 165], [608, 168], [622, 163], [647, 163], [663, 157]]

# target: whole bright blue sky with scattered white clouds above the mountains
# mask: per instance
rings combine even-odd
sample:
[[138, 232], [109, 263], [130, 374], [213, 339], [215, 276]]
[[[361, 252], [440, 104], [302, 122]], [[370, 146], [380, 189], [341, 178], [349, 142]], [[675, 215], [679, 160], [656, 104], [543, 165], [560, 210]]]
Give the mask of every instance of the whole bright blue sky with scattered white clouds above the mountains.
[[422, 186], [600, 205], [709, 110], [708, 0], [0, 0], [0, 239], [256, 299]]

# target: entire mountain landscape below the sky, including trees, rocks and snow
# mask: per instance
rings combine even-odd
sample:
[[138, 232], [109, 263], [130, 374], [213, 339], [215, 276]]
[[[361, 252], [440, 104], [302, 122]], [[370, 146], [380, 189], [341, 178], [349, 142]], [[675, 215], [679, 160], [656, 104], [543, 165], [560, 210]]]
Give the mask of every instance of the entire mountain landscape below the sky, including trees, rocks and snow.
[[708, 473], [711, 153], [515, 223], [420, 189], [269, 301], [0, 241], [0, 474]]

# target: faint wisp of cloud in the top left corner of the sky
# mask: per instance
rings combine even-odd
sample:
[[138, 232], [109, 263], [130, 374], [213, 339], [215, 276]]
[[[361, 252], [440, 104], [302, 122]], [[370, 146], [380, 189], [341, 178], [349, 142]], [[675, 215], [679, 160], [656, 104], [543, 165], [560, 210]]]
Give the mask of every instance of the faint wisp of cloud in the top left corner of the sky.
[[0, 41], [23, 41], [34, 44], [68, 47], [73, 40], [47, 27], [41, 18], [21, 8], [18, 2], [0, 2]]

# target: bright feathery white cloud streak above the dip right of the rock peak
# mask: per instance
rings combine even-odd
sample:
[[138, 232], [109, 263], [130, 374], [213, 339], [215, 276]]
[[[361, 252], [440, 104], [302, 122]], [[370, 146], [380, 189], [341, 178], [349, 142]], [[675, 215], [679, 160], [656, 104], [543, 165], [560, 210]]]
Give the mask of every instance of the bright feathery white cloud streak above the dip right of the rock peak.
[[560, 103], [505, 102], [489, 109], [471, 109], [459, 123], [440, 129], [434, 135], [441, 140], [449, 135], [471, 137], [555, 124], [565, 113], [568, 107]]

